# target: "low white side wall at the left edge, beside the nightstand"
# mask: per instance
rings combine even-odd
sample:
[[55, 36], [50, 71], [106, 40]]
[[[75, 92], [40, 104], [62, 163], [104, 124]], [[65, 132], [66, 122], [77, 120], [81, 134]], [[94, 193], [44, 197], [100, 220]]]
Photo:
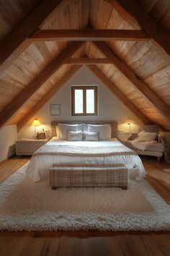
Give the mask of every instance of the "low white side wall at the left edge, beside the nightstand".
[[17, 140], [17, 125], [9, 125], [0, 129], [0, 161], [14, 155]]

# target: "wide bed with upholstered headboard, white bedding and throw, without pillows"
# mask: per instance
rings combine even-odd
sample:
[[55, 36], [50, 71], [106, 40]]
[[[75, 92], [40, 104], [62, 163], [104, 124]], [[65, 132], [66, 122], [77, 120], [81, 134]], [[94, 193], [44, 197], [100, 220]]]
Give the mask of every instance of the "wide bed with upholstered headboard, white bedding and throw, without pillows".
[[[63, 122], [67, 123], [68, 122]], [[69, 124], [77, 124], [70, 122]], [[50, 167], [56, 163], [112, 164], [122, 163], [131, 179], [140, 181], [146, 175], [139, 156], [117, 140], [117, 122], [83, 122], [84, 125], [110, 125], [110, 138], [98, 141], [68, 141], [56, 137], [58, 122], [51, 123], [52, 139], [37, 150], [27, 166], [26, 175], [34, 182], [49, 176]], [[82, 124], [79, 122], [79, 124]]]

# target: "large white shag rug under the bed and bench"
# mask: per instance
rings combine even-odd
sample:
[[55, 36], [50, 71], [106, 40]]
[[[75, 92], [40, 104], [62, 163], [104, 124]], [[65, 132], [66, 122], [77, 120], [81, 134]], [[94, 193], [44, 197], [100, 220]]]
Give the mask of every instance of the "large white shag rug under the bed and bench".
[[130, 189], [50, 189], [34, 183], [26, 166], [0, 184], [0, 229], [8, 231], [169, 231], [170, 205], [148, 182]]

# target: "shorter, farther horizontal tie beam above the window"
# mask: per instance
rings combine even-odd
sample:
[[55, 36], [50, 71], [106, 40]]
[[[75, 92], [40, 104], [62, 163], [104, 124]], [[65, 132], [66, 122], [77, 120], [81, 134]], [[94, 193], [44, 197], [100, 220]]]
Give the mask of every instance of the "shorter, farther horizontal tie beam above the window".
[[112, 64], [112, 59], [109, 58], [71, 58], [65, 64]]

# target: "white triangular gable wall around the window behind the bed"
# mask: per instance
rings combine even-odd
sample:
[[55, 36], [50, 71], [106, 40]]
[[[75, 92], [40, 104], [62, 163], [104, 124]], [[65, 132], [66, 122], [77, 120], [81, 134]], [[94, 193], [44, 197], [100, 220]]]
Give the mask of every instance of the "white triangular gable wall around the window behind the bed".
[[[98, 85], [98, 116], [71, 116], [71, 85]], [[50, 116], [50, 104], [61, 104], [61, 116]], [[45, 130], [50, 130], [50, 121], [77, 121], [77, 120], [115, 120], [119, 123], [119, 129], [129, 130], [125, 120], [131, 116], [136, 122], [131, 129], [132, 132], [138, 131], [140, 120], [132, 114], [107, 87], [87, 68], [81, 67], [76, 74], [71, 77], [68, 82], [56, 93], [48, 103], [43, 106], [40, 111], [32, 117], [27, 125], [19, 132], [19, 137], [33, 137], [34, 127], [31, 126], [32, 121], [37, 118], [43, 124]], [[37, 127], [37, 132], [42, 131], [42, 127]]]

